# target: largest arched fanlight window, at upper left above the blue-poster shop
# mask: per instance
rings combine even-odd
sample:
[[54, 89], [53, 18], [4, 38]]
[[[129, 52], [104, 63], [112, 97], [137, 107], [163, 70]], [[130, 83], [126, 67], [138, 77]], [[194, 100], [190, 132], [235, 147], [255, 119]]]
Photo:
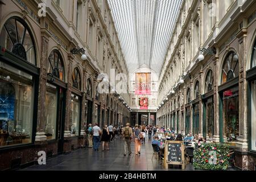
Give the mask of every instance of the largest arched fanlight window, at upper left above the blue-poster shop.
[[7, 20], [0, 34], [0, 45], [16, 56], [36, 64], [35, 43], [30, 28], [18, 17]]

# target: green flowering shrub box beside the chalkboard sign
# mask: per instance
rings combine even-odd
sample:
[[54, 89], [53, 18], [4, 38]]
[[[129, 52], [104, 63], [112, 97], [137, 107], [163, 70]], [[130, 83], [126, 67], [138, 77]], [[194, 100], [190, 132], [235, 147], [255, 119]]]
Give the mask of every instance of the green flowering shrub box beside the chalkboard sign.
[[229, 150], [230, 147], [222, 143], [196, 144], [193, 166], [196, 169], [227, 170], [230, 159]]

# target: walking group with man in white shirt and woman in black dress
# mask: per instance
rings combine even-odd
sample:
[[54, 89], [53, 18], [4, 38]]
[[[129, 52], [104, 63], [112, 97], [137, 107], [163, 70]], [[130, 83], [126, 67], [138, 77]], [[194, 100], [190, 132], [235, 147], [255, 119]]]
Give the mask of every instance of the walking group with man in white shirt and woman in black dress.
[[109, 150], [110, 141], [116, 140], [118, 138], [118, 128], [113, 127], [112, 124], [105, 125], [101, 130], [98, 123], [88, 125], [87, 129], [88, 147], [93, 148], [94, 151], [98, 151], [100, 143], [102, 142], [102, 151]]

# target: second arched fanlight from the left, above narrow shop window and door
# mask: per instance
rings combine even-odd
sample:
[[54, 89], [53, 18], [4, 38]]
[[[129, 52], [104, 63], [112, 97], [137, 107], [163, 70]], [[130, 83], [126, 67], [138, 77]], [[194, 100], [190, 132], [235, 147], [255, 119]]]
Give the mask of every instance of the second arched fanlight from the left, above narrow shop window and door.
[[59, 78], [61, 81], [65, 81], [63, 59], [60, 52], [56, 49], [49, 54], [47, 72], [51, 73], [52, 76]]

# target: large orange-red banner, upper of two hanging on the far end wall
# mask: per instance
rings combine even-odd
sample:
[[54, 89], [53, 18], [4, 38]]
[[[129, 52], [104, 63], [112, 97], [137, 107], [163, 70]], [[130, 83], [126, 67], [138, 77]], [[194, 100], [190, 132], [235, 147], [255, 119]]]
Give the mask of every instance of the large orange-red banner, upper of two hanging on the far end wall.
[[151, 95], [151, 73], [136, 73], [135, 95]]

